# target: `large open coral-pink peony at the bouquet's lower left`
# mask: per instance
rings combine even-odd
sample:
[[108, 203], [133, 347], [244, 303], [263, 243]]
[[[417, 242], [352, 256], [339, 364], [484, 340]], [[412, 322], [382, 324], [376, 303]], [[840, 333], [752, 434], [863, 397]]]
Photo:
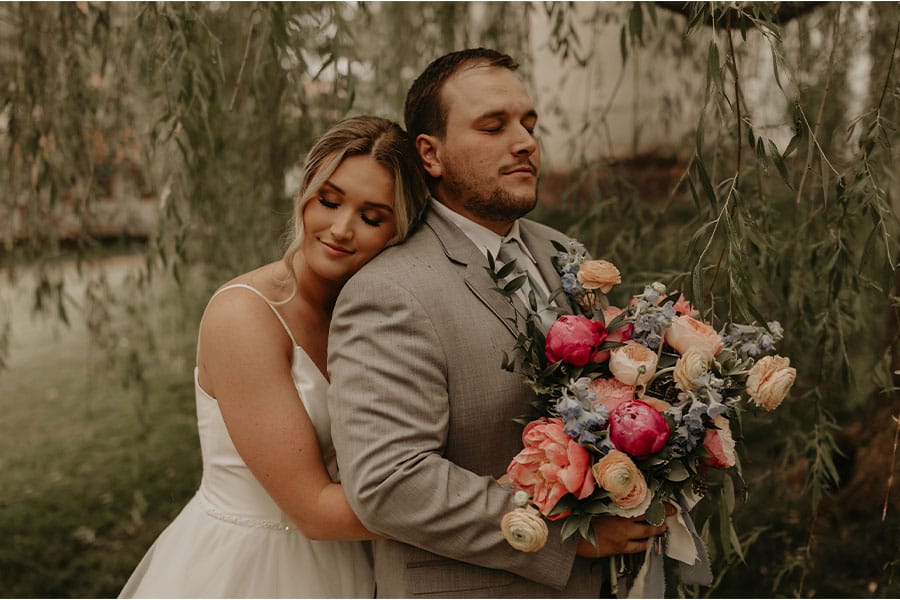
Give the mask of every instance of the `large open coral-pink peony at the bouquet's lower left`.
[[594, 491], [591, 458], [587, 450], [563, 432], [562, 419], [541, 417], [525, 426], [522, 449], [509, 463], [510, 481], [531, 495], [541, 513], [549, 519], [562, 519], [567, 514], [550, 516], [550, 511], [566, 494], [579, 500]]

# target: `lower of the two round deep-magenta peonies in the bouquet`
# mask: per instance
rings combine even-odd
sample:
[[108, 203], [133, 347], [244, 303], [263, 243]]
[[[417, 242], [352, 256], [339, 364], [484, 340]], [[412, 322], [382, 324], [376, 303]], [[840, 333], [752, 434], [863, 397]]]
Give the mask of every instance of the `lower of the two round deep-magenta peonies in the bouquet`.
[[654, 407], [641, 400], [631, 400], [610, 413], [609, 439], [618, 450], [643, 460], [666, 445], [669, 424]]

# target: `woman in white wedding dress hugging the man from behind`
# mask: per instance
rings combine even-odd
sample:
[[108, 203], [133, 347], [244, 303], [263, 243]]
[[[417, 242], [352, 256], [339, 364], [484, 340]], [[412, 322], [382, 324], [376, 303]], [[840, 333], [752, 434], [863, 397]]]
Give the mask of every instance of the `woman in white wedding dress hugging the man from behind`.
[[210, 299], [194, 369], [200, 488], [121, 598], [372, 597], [326, 407], [331, 311], [344, 282], [402, 240], [424, 206], [399, 125], [356, 117], [307, 157], [282, 260]]

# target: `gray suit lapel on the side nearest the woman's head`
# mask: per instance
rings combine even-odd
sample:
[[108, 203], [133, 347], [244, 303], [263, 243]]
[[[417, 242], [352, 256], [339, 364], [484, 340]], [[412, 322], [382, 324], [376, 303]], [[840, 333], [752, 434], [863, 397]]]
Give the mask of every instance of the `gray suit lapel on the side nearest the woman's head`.
[[[459, 227], [444, 219], [436, 211], [428, 211], [425, 217], [425, 224], [437, 236], [447, 258], [451, 262], [465, 267], [465, 281], [469, 290], [494, 313], [494, 316], [500, 319], [500, 322], [503, 323], [513, 337], [518, 337], [519, 331], [515, 325], [515, 310], [510, 306], [507, 299], [494, 289], [496, 284], [485, 270], [487, 258], [481, 254], [475, 244]], [[519, 311], [524, 311], [525, 307], [518, 296], [513, 296], [513, 302]]]

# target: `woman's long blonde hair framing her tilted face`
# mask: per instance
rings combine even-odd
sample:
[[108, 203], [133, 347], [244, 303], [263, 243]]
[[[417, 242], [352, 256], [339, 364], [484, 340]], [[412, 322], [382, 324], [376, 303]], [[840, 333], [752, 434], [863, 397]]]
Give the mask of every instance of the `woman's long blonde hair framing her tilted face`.
[[[344, 119], [325, 132], [313, 145], [303, 167], [303, 181], [294, 200], [291, 227], [282, 261], [293, 273], [294, 258], [303, 242], [303, 209], [319, 188], [351, 156], [371, 156], [394, 179], [394, 219], [397, 233], [388, 245], [403, 241], [421, 216], [428, 190], [412, 144], [400, 125], [382, 117]], [[292, 279], [294, 279], [292, 277]], [[287, 302], [297, 293], [297, 282]]]

